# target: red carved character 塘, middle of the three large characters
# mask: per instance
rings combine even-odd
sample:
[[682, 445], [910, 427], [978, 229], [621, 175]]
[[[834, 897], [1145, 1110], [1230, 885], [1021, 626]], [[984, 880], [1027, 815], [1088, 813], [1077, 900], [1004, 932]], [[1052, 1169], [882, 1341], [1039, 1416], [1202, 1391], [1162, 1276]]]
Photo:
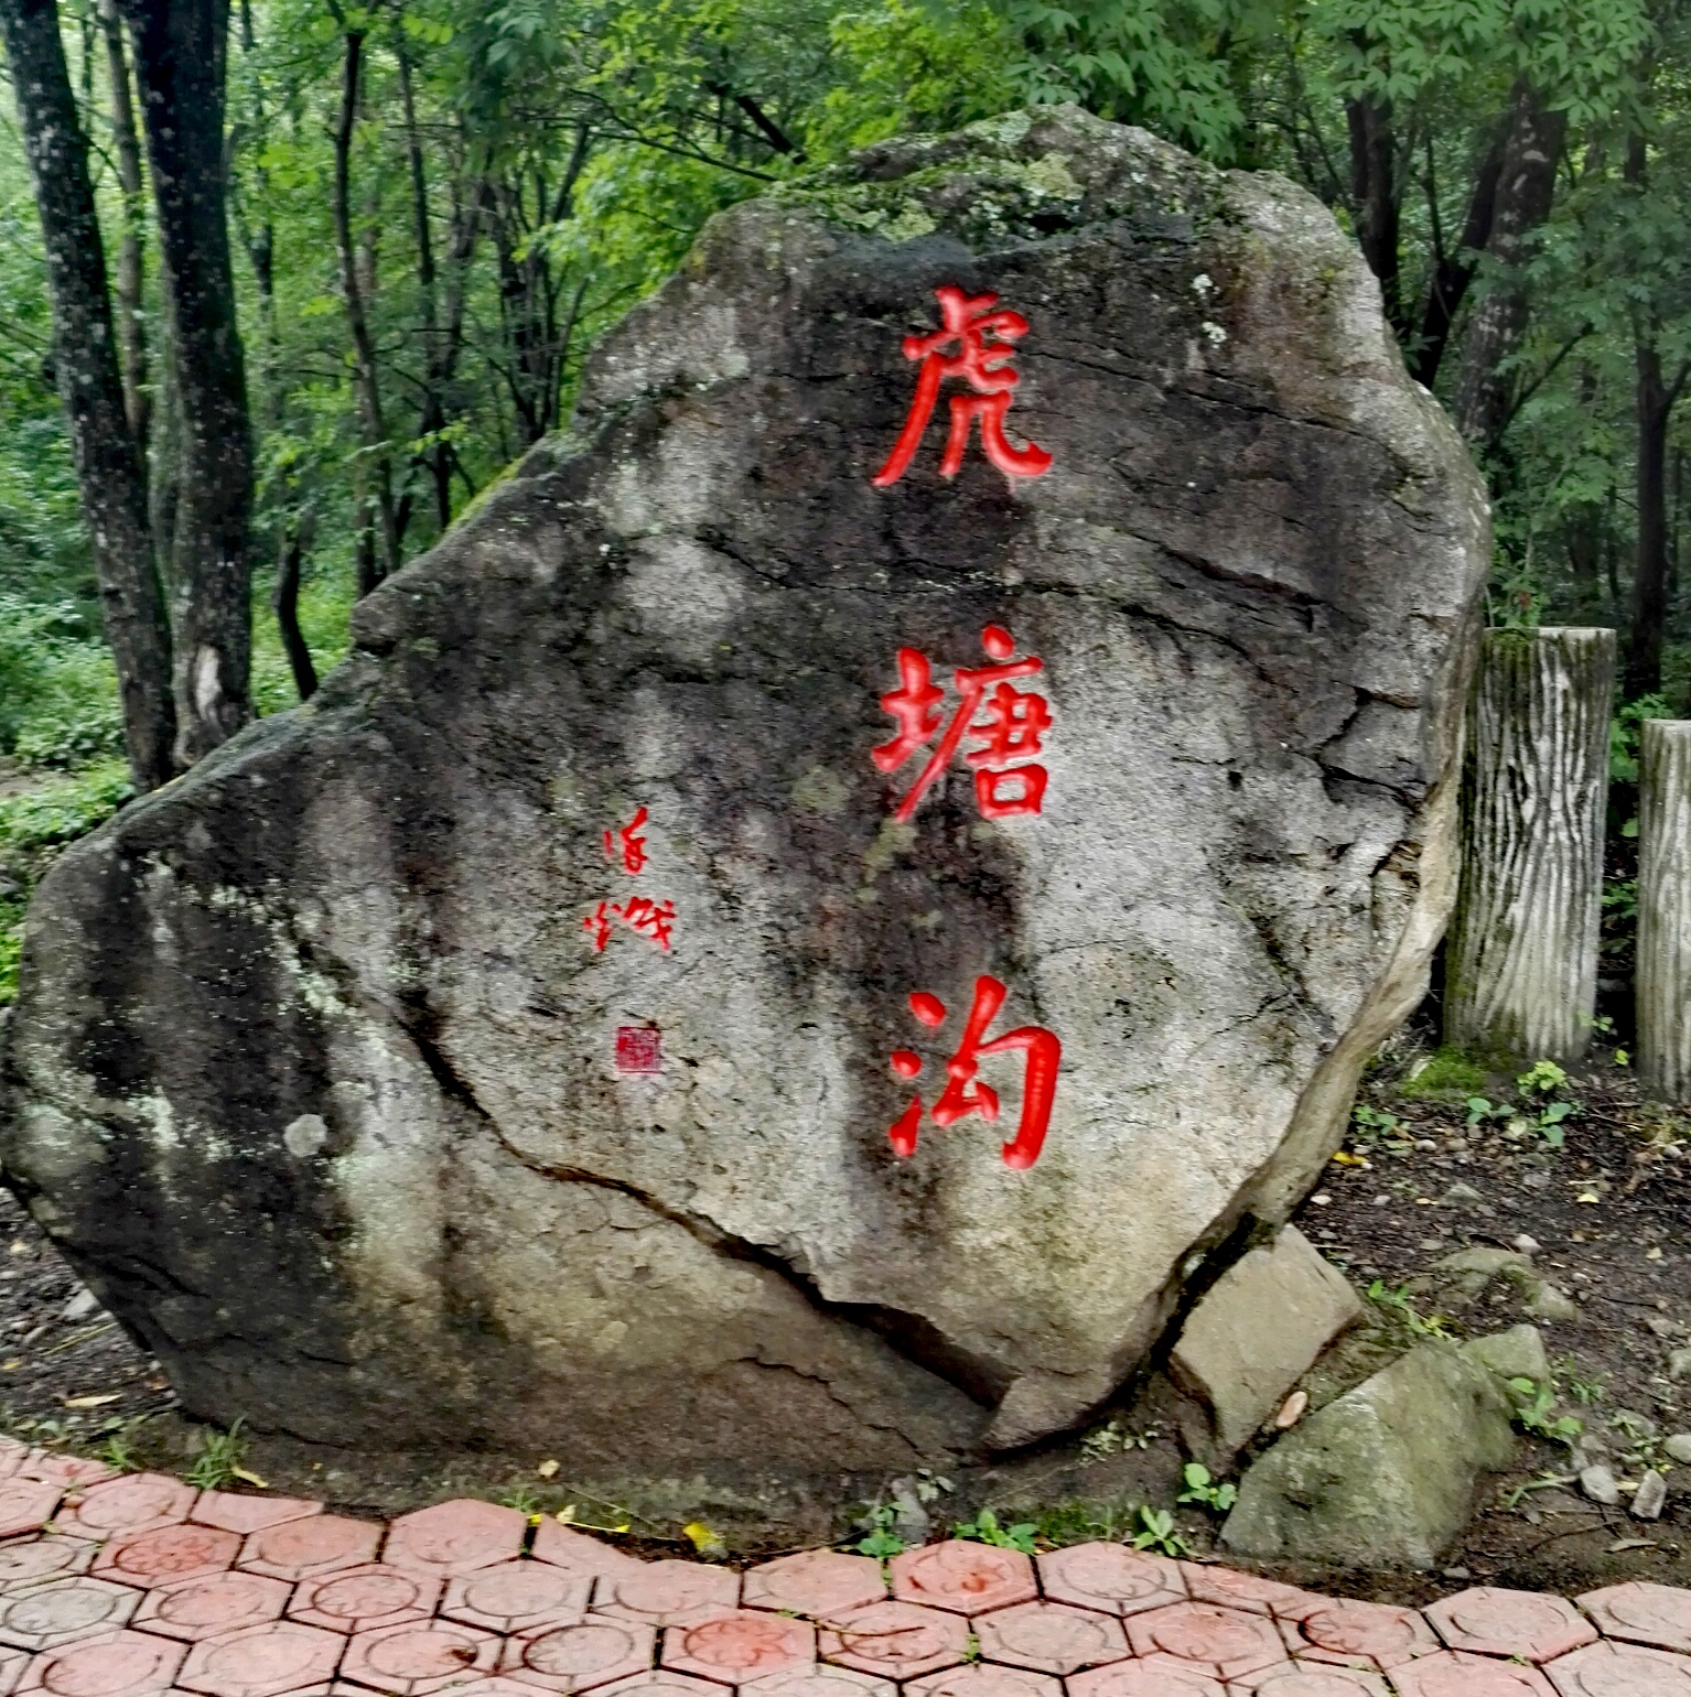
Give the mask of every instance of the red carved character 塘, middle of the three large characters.
[[[893, 809], [900, 825], [915, 813], [920, 799], [951, 765], [964, 736], [980, 743], [966, 750], [963, 759], [975, 769], [975, 804], [983, 820], [1039, 813], [1044, 806], [1049, 774], [1042, 765], [1029, 762], [1044, 750], [1051, 706], [1044, 696], [1010, 684], [1012, 677], [1031, 677], [1044, 662], [1032, 655], [1012, 660], [1015, 638], [1002, 624], [988, 624], [981, 631], [981, 647], [1000, 664], [959, 667], [951, 674], [963, 704], [951, 716], [910, 792]], [[869, 759], [883, 772], [896, 772], [910, 755], [932, 742], [939, 730], [939, 703], [944, 699], [944, 691], [934, 686], [927, 655], [920, 648], [900, 648], [898, 689], [881, 696], [881, 709], [898, 723], [898, 733], [891, 742], [873, 748]], [[976, 718], [983, 706], [985, 718]]]

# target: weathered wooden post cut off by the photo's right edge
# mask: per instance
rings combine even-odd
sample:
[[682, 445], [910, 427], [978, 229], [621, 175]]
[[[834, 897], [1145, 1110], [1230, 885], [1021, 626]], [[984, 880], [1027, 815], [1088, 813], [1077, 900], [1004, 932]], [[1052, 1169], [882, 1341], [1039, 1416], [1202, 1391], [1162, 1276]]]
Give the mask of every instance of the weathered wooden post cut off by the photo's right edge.
[[1638, 1078], [1691, 1101], [1691, 720], [1638, 731]]

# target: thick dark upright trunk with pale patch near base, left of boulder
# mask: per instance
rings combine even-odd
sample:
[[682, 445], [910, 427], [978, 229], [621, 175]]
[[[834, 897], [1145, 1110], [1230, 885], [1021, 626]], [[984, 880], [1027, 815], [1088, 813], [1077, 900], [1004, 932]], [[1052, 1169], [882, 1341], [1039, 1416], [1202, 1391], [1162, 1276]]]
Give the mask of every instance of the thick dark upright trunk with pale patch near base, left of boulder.
[[177, 760], [251, 716], [253, 443], [224, 165], [228, 0], [121, 0], [134, 46], [180, 406], [171, 538]]

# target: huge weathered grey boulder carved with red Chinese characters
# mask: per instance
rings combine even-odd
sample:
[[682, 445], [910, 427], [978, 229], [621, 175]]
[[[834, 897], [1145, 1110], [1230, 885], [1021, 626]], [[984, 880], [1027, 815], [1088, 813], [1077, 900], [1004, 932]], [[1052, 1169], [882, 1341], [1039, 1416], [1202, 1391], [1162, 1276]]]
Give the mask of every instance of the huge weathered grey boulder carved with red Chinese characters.
[[[1025, 334], [929, 365], [937, 290]], [[7, 1181], [219, 1419], [581, 1466], [1068, 1427], [1421, 993], [1486, 563], [1309, 195], [1073, 109], [873, 148], [715, 219], [311, 706], [54, 865]], [[993, 979], [1000, 1127], [917, 1127]]]

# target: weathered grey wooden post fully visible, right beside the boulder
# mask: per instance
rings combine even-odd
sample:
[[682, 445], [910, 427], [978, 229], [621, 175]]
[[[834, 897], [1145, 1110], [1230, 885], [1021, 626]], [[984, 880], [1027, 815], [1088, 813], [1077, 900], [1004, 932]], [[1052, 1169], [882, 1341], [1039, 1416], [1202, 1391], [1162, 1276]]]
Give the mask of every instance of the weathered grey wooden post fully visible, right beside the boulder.
[[1509, 1061], [1591, 1040], [1615, 631], [1487, 631], [1467, 730], [1445, 1040]]

